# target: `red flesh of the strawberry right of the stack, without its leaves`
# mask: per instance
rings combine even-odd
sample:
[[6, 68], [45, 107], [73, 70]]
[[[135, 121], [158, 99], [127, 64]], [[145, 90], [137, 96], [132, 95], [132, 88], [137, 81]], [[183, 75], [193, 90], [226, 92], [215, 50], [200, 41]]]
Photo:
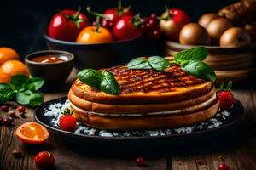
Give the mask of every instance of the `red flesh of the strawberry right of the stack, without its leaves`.
[[230, 109], [233, 105], [233, 94], [228, 91], [219, 91], [218, 92], [218, 101], [219, 101], [219, 107], [223, 110]]

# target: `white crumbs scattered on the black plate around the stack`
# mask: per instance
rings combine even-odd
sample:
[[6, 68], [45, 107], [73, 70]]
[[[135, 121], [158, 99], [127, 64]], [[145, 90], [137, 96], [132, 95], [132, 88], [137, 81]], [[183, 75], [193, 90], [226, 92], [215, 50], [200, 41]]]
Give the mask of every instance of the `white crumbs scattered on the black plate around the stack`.
[[[61, 112], [63, 112], [65, 109], [69, 108], [69, 100], [67, 100], [64, 104], [61, 103], [55, 103], [52, 105], [49, 105], [49, 108], [45, 109], [44, 116], [50, 116], [51, 117], [51, 125], [54, 127], [59, 127], [59, 119], [61, 117]], [[129, 137], [129, 136], [166, 136], [166, 135], [172, 135], [173, 132], [175, 133], [191, 133], [195, 129], [210, 129], [214, 127], [219, 127], [223, 124], [223, 121], [226, 120], [228, 117], [230, 117], [231, 114], [229, 111], [221, 111], [216, 116], [209, 119], [207, 122], [201, 122], [194, 126], [190, 127], [178, 127], [174, 129], [156, 129], [156, 130], [141, 130], [141, 131], [125, 131], [125, 132], [111, 132], [106, 130], [98, 130], [96, 128], [87, 127], [81, 122], [77, 123], [77, 129], [75, 130], [75, 133], [83, 133], [85, 135], [90, 136], [102, 136], [102, 137]]]

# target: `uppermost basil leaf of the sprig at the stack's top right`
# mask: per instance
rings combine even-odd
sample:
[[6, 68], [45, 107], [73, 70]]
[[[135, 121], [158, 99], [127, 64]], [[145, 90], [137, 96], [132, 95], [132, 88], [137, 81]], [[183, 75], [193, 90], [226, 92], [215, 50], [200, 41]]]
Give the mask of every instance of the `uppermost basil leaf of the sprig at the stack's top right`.
[[174, 60], [180, 63], [184, 60], [201, 60], [207, 58], [208, 50], [205, 47], [196, 47], [183, 50], [174, 55]]

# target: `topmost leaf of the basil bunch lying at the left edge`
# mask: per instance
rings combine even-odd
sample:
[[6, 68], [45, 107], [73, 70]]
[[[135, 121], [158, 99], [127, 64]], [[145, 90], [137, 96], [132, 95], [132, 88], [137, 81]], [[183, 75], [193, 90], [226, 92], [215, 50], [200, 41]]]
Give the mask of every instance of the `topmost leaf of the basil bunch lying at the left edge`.
[[10, 85], [13, 90], [19, 90], [20, 88], [25, 88], [28, 81], [29, 77], [26, 77], [25, 75], [16, 75], [11, 77]]

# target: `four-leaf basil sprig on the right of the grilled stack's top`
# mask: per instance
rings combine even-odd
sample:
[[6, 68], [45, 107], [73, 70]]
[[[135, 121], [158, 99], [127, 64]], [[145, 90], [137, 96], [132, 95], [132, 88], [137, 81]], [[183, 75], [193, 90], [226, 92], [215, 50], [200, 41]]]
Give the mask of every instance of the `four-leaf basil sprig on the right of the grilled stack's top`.
[[204, 47], [190, 48], [174, 55], [174, 60], [169, 61], [160, 56], [132, 59], [127, 67], [129, 69], [153, 69], [164, 71], [169, 65], [181, 65], [183, 71], [189, 75], [204, 78], [215, 82], [216, 75], [211, 67], [203, 62], [207, 58], [208, 51]]

